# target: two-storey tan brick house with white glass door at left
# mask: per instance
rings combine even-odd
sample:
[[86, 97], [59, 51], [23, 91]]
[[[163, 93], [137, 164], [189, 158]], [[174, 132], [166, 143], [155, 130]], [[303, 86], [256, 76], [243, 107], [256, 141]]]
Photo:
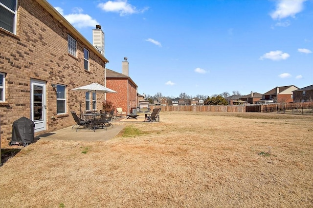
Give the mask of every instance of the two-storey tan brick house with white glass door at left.
[[105, 94], [72, 91], [105, 84], [109, 61], [86, 38], [46, 0], [1, 0], [0, 11], [1, 147], [22, 116], [37, 136], [74, 125], [71, 110], [100, 109]]

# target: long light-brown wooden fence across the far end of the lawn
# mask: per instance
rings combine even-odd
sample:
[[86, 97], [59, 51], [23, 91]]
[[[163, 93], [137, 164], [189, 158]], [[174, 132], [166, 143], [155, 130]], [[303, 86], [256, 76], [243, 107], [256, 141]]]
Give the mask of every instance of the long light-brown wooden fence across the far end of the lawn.
[[178, 106], [150, 106], [151, 110], [154, 108], [161, 108], [164, 111], [189, 111], [189, 112], [239, 112], [245, 113], [246, 106], [230, 106], [230, 105], [178, 105]]

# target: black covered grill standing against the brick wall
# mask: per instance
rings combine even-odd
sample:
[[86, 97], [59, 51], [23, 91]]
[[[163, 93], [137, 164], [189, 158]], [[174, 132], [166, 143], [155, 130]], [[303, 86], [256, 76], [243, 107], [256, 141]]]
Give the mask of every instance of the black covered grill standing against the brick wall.
[[22, 117], [13, 122], [12, 142], [31, 143], [34, 141], [35, 124], [32, 120]]

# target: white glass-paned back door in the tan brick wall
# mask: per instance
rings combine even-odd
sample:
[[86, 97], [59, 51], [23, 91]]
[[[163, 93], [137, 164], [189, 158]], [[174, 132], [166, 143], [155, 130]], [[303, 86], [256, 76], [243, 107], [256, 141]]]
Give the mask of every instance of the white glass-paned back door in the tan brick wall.
[[31, 80], [31, 119], [35, 123], [35, 132], [46, 130], [45, 82]]

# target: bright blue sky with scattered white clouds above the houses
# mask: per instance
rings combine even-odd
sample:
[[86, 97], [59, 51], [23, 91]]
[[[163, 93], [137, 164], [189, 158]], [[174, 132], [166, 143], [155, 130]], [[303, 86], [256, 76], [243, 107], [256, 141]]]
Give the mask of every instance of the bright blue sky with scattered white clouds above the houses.
[[313, 0], [48, 0], [138, 93], [177, 97], [313, 84]]

